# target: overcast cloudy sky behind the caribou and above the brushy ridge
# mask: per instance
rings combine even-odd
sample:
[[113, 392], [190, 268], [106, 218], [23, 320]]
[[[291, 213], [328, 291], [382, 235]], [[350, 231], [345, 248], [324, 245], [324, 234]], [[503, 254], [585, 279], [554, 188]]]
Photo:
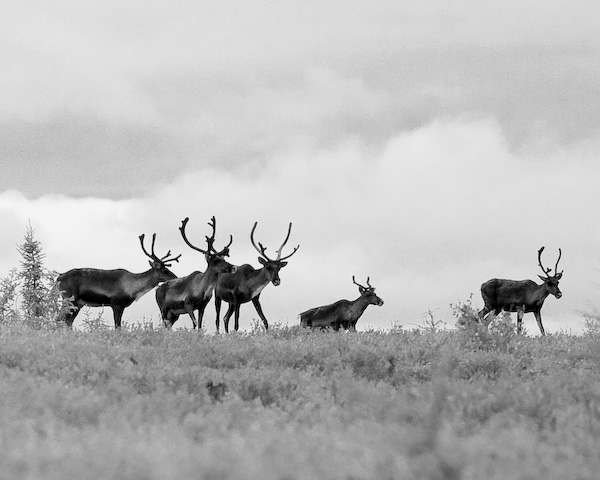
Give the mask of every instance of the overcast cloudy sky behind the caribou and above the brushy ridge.
[[[0, 276], [28, 222], [46, 266], [147, 267], [216, 215], [259, 266], [271, 322], [358, 296], [360, 327], [411, 327], [492, 277], [564, 269], [550, 332], [600, 308], [596, 1], [0, 3]], [[206, 319], [214, 329], [212, 307]], [[242, 307], [242, 327], [256, 317]], [[105, 316], [111, 317], [107, 311]], [[125, 311], [158, 322], [154, 293]], [[186, 319], [186, 322], [188, 320]], [[532, 315], [525, 327], [537, 334]]]

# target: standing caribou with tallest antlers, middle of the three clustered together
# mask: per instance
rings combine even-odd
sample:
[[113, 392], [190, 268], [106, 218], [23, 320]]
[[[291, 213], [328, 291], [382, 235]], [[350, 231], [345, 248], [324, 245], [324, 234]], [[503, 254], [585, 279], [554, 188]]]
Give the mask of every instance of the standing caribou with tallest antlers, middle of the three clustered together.
[[[192, 319], [194, 329], [196, 327], [198, 329], [202, 328], [204, 309], [212, 298], [219, 274], [233, 273], [237, 268], [223, 258], [229, 256], [229, 247], [233, 242], [233, 236], [229, 236], [229, 243], [221, 251], [217, 252], [214, 248], [217, 231], [217, 223], [214, 216], [208, 222], [208, 225], [212, 227], [212, 235], [205, 237], [206, 250], [192, 245], [188, 240], [185, 234], [185, 227], [188, 221], [189, 217], [181, 222], [181, 227], [179, 227], [181, 236], [190, 248], [204, 254], [208, 266], [204, 273], [193, 272], [187, 277], [169, 280], [156, 289], [156, 303], [158, 303], [163, 323], [167, 328], [171, 328], [179, 318], [179, 315], [184, 313], [187, 313]], [[197, 321], [194, 310], [198, 310]]]

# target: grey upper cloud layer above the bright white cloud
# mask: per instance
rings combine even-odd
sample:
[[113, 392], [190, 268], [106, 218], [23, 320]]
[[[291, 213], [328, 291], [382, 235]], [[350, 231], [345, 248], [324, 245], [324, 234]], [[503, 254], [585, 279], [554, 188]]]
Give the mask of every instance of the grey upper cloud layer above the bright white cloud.
[[[29, 0], [0, 15], [0, 191], [126, 199], [462, 115], [516, 155], [597, 137], [598, 6]], [[134, 181], [135, 179], [135, 181]]]

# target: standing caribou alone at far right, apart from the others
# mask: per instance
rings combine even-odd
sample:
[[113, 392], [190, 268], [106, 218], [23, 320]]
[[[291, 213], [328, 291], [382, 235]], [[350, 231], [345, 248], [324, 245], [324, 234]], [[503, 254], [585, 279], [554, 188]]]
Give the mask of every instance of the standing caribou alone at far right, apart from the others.
[[545, 247], [538, 250], [538, 264], [544, 276], [538, 275], [544, 282], [538, 285], [532, 280], [502, 280], [492, 278], [481, 285], [481, 296], [485, 306], [479, 312], [479, 321], [482, 322], [484, 317], [493, 312], [498, 315], [500, 311], [517, 312], [517, 332], [521, 333], [523, 315], [533, 312], [537, 320], [538, 327], [542, 335], [546, 335], [544, 326], [542, 325], [541, 309], [544, 300], [549, 294], [556, 298], [562, 297], [562, 293], [558, 289], [558, 281], [561, 279], [563, 272], [558, 273], [558, 262], [562, 255], [562, 251], [558, 249], [558, 260], [554, 266], [554, 275], [550, 275], [551, 268], [544, 268], [542, 265], [542, 252]]

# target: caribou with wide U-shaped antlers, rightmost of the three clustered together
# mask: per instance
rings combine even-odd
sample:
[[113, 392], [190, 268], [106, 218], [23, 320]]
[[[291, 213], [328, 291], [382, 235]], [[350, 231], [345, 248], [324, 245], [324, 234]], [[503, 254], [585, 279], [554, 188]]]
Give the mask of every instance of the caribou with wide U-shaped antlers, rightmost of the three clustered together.
[[227, 309], [227, 313], [223, 318], [223, 322], [225, 324], [225, 332], [229, 333], [229, 319], [231, 315], [235, 312], [235, 330], [237, 331], [239, 328], [239, 318], [240, 318], [240, 306], [242, 303], [247, 303], [252, 301], [254, 304], [254, 308], [256, 308], [256, 312], [258, 316], [263, 321], [265, 329], [269, 329], [269, 323], [265, 318], [265, 314], [262, 311], [262, 307], [260, 305], [260, 293], [263, 288], [265, 288], [269, 282], [273, 285], [277, 286], [281, 283], [279, 279], [279, 270], [287, 265], [287, 260], [290, 258], [300, 245], [294, 248], [294, 251], [290, 253], [288, 256], [281, 258], [281, 252], [283, 247], [287, 243], [290, 238], [290, 233], [292, 231], [292, 224], [290, 222], [290, 226], [288, 228], [288, 234], [285, 237], [285, 240], [281, 244], [281, 247], [276, 251], [277, 258], [271, 260], [267, 257], [265, 250], [267, 249], [260, 242], [259, 246], [256, 245], [254, 241], [254, 231], [256, 230], [256, 225], [258, 222], [254, 222], [254, 226], [252, 227], [252, 231], [250, 232], [250, 241], [252, 242], [252, 246], [260, 253], [260, 257], [258, 257], [258, 261], [262, 264], [262, 268], [255, 269], [252, 265], [244, 264], [241, 267], [238, 267], [235, 273], [224, 273], [219, 275], [217, 280], [217, 284], [215, 286], [215, 309], [217, 310], [217, 332], [219, 331], [219, 315], [221, 312], [221, 301], [225, 301], [229, 304], [229, 308]]

